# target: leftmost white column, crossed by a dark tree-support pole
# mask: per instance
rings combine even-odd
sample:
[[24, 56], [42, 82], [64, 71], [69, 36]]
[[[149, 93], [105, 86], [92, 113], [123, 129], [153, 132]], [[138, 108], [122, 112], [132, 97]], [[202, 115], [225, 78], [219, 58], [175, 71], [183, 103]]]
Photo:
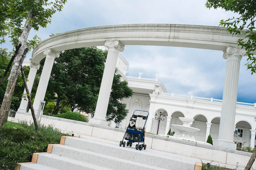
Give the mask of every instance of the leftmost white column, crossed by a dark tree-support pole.
[[[28, 86], [29, 93], [31, 95], [31, 90], [32, 90], [32, 87], [33, 87], [33, 84], [34, 84], [36, 72], [39, 69], [39, 64], [31, 63], [29, 65], [29, 67], [30, 67], [30, 70], [29, 70], [29, 73], [28, 73], [27, 86]], [[26, 89], [24, 89], [23, 94], [27, 94]], [[24, 99], [26, 99], [26, 100], [24, 100]], [[25, 98], [21, 99], [18, 112], [27, 112], [27, 106], [28, 106], [28, 98], [26, 96]]]

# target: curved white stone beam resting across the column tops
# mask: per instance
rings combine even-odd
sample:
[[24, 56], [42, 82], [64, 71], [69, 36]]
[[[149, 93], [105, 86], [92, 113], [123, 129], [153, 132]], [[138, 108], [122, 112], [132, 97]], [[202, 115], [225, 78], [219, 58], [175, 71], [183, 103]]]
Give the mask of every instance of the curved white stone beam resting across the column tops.
[[237, 47], [237, 39], [226, 28], [182, 24], [126, 24], [84, 28], [61, 33], [40, 42], [32, 53], [33, 63], [45, 58], [45, 49], [64, 51], [73, 48], [103, 46], [105, 41], [119, 40], [124, 45], [157, 45], [226, 50]]

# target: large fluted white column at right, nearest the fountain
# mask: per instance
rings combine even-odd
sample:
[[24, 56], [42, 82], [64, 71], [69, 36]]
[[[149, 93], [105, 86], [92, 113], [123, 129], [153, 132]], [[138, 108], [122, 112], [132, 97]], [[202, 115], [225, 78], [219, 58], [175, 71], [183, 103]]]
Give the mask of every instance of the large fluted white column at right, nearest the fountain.
[[219, 137], [216, 144], [219, 147], [236, 149], [236, 144], [233, 142], [233, 134], [237, 103], [238, 78], [240, 61], [242, 56], [245, 55], [246, 50], [228, 46], [227, 50], [223, 51], [223, 53], [223, 58], [227, 59], [227, 64], [221, 106]]

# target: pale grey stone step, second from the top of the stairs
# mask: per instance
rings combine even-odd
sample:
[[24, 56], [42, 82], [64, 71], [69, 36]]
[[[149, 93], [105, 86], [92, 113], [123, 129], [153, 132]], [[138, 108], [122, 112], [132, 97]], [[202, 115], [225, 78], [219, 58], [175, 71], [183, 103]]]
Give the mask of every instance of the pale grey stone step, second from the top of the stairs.
[[[165, 169], [157, 166], [143, 164], [141, 162], [134, 162], [131, 160], [127, 160], [126, 157], [123, 159], [117, 158], [115, 156], [104, 155], [101, 153], [95, 153], [92, 151], [82, 150], [78, 148], [74, 148], [67, 145], [54, 145], [52, 148], [53, 154], [61, 155], [67, 158], [71, 158], [74, 160], [88, 162], [94, 165], [104, 165], [104, 167], [111, 168], [111, 169], [126, 169], [130, 167], [131, 169]], [[144, 159], [144, 158], [140, 158]]]

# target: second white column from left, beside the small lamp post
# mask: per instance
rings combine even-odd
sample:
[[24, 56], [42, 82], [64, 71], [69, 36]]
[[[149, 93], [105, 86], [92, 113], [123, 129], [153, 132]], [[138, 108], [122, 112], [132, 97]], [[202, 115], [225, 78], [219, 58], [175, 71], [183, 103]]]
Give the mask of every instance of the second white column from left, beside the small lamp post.
[[33, 103], [35, 114], [37, 114], [37, 109], [39, 107], [40, 100], [44, 100], [45, 98], [45, 93], [46, 93], [46, 89], [50, 79], [54, 59], [56, 57], [58, 58], [60, 56], [59, 54], [60, 53], [58, 51], [54, 51], [52, 49], [47, 49], [44, 51], [44, 55], [46, 55], [45, 63], [42, 70], [42, 74], [40, 76], [39, 84], [36, 91], [36, 96]]

